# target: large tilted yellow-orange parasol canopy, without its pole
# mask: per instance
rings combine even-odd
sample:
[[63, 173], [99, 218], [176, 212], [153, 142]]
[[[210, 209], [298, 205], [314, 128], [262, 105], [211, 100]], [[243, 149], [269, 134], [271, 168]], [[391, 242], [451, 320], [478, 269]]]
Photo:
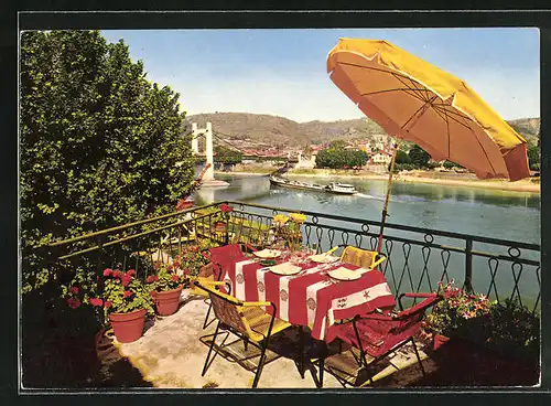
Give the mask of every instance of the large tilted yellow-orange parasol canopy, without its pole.
[[526, 140], [457, 77], [386, 42], [341, 39], [331, 79], [387, 133], [480, 179], [530, 175]]

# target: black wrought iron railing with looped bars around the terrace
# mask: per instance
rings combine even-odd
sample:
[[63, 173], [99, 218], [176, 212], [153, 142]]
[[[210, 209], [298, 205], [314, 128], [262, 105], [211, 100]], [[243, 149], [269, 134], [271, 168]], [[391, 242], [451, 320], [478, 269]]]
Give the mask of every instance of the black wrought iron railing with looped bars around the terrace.
[[[223, 216], [217, 202], [164, 216], [143, 220], [83, 235], [48, 246], [56, 266], [132, 267], [145, 278], [153, 260], [166, 260], [186, 245], [247, 242], [267, 246], [273, 241], [272, 218], [291, 209], [244, 202], [225, 202], [234, 207]], [[301, 211], [306, 214], [302, 243], [317, 252], [339, 244], [376, 249], [380, 222]], [[215, 221], [225, 218], [217, 231]], [[56, 250], [57, 249], [57, 250]], [[380, 266], [395, 295], [432, 291], [437, 282], [452, 278], [464, 288], [490, 299], [519, 300], [533, 311], [540, 309], [540, 246], [387, 223]]]

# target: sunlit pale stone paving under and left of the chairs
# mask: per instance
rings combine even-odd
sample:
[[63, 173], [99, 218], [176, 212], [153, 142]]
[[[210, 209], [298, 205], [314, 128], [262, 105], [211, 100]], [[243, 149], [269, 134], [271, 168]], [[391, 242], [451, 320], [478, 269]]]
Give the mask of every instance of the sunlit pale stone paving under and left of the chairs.
[[[175, 314], [162, 319], [156, 318], [154, 322], [152, 321], [145, 327], [143, 336], [138, 341], [122, 344], [114, 340], [114, 344], [120, 355], [128, 357], [132, 365], [140, 371], [143, 380], [151, 382], [154, 387], [250, 387], [255, 374], [239, 363], [227, 361], [219, 355], [215, 357], [206, 375], [201, 376], [208, 348], [199, 341], [199, 336], [214, 332], [216, 325], [216, 323], [212, 323], [206, 330], [203, 330], [207, 309], [208, 303], [204, 297], [190, 295], [190, 291], [184, 290], [180, 310]], [[281, 348], [296, 339], [293, 329], [288, 329], [280, 334], [273, 341], [274, 345], [280, 342]], [[229, 351], [234, 351], [238, 356], [250, 356], [258, 350], [249, 345], [245, 352], [242, 342], [240, 342], [230, 346]], [[278, 350], [274, 349], [274, 351]], [[273, 352], [269, 351], [269, 360], [277, 356]], [[281, 354], [280, 351], [278, 353]], [[346, 353], [350, 354], [349, 351]], [[315, 389], [312, 375], [306, 372], [302, 378], [291, 357], [291, 355], [281, 356], [268, 363], [262, 371], [258, 387]], [[421, 351], [421, 359], [425, 357], [426, 355]], [[352, 355], [348, 357], [348, 365], [354, 364], [350, 360], [354, 361]], [[253, 361], [258, 362], [258, 357]], [[338, 355], [329, 359], [327, 364], [337, 365], [339, 362], [341, 366], [347, 363], [345, 357]], [[390, 357], [390, 362], [382, 363], [382, 371], [379, 371], [374, 380], [380, 380], [414, 363], [417, 363], [417, 359], [412, 348], [408, 350], [404, 346], [404, 350]], [[342, 388], [343, 386], [332, 374], [325, 372], [324, 387]]]

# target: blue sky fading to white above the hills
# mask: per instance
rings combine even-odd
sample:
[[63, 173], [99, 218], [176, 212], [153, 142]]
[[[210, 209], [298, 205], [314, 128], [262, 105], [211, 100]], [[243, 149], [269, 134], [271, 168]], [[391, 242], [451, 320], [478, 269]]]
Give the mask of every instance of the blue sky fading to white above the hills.
[[188, 114], [245, 111], [296, 121], [363, 117], [331, 82], [342, 36], [387, 40], [466, 81], [503, 118], [540, 116], [537, 29], [134, 30], [122, 39], [148, 77], [180, 93]]

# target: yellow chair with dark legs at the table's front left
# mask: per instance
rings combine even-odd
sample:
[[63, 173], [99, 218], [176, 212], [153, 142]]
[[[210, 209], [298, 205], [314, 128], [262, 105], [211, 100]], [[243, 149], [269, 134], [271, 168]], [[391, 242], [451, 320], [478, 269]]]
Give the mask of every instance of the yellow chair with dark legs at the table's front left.
[[[206, 374], [208, 367], [210, 366], [209, 364], [214, 361], [216, 354], [218, 354], [225, 346], [224, 343], [231, 332], [239, 339], [244, 340], [245, 349], [247, 349], [247, 344], [250, 342], [260, 350], [260, 360], [258, 362], [258, 366], [256, 367], [255, 380], [252, 382], [252, 387], [257, 387], [260, 374], [262, 373], [262, 367], [266, 363], [266, 350], [268, 349], [270, 338], [273, 334], [291, 327], [291, 324], [276, 318], [276, 304], [272, 302], [241, 301], [230, 295], [223, 293], [219, 291], [220, 286], [226, 286], [228, 291], [230, 289], [229, 284], [225, 281], [208, 281], [204, 285], [196, 281], [195, 286], [208, 292], [215, 317], [218, 319], [215, 333], [205, 335], [213, 335], [213, 341], [210, 342], [207, 357], [205, 360], [205, 366], [203, 367], [201, 375], [204, 376]], [[262, 310], [263, 307], [271, 307], [273, 310], [272, 316], [264, 312]], [[215, 354], [210, 359], [213, 349], [215, 349], [215, 341], [217, 336], [224, 333], [220, 332], [220, 329], [226, 330], [226, 336], [224, 338], [222, 344], [217, 346]], [[227, 345], [230, 344], [226, 344], [226, 346]]]

